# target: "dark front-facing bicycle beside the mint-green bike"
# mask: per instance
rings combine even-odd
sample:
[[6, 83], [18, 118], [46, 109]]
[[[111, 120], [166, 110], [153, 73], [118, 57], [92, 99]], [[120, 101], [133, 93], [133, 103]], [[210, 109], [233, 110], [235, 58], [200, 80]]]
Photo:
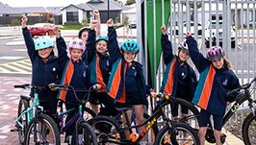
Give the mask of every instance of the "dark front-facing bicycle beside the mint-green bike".
[[[71, 85], [53, 85], [52, 87], [64, 90], [71, 90], [73, 92], [74, 97], [79, 102], [78, 108], [68, 109], [65, 111], [63, 109], [63, 103], [61, 102], [59, 104], [59, 107], [61, 109], [60, 114], [58, 114], [57, 117], [60, 120], [60, 133], [65, 133], [68, 130], [68, 128], [74, 125], [75, 123], [75, 131], [72, 134], [71, 144], [82, 144], [83, 142], [84, 145], [97, 145], [98, 143], [96, 134], [93, 132], [93, 129], [90, 126], [90, 124], [87, 123], [87, 120], [89, 118], [94, 117], [96, 114], [91, 109], [86, 107], [86, 103], [89, 101], [90, 98], [90, 92], [93, 91], [94, 88], [91, 86], [89, 90], [78, 90]], [[81, 100], [79, 100], [76, 95], [76, 91], [86, 91], [88, 93]], [[77, 113], [70, 120], [68, 120], [66, 124], [64, 124], [64, 116], [75, 111], [77, 111]], [[79, 142], [78, 134], [83, 134], [83, 138], [81, 140], [82, 142]]]

